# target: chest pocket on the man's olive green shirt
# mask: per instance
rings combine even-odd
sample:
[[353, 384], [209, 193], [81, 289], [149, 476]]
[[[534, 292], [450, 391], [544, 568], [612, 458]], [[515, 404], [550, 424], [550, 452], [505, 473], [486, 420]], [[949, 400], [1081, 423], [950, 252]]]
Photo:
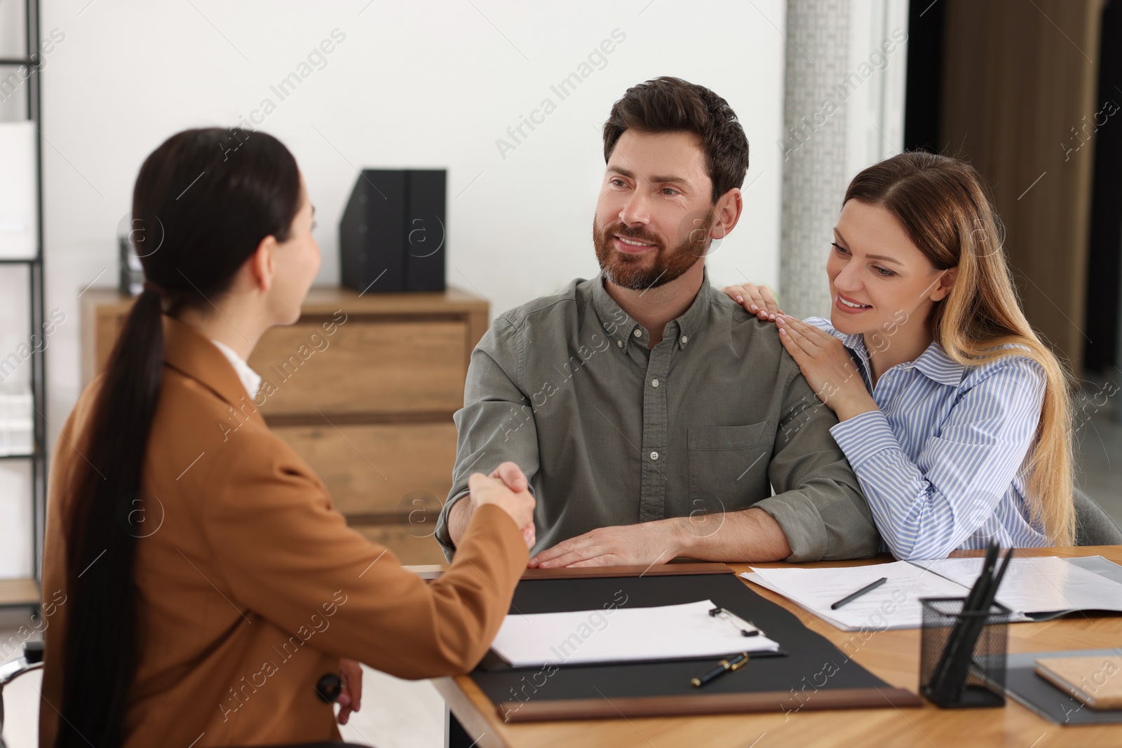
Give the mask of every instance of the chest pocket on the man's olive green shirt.
[[771, 496], [767, 465], [774, 441], [771, 421], [689, 428], [690, 516], [743, 509]]

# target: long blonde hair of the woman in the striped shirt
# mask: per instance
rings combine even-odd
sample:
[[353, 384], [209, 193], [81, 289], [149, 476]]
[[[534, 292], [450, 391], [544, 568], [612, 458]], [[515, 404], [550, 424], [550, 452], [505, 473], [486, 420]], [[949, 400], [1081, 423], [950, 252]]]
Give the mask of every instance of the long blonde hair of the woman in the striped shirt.
[[1028, 508], [1051, 544], [1073, 545], [1069, 377], [1024, 317], [1002, 248], [1001, 222], [981, 176], [957, 158], [900, 154], [854, 177], [845, 200], [884, 207], [932, 266], [958, 268], [954, 287], [930, 320], [935, 341], [947, 355], [967, 367], [1024, 355], [1043, 369], [1045, 399], [1028, 453]]

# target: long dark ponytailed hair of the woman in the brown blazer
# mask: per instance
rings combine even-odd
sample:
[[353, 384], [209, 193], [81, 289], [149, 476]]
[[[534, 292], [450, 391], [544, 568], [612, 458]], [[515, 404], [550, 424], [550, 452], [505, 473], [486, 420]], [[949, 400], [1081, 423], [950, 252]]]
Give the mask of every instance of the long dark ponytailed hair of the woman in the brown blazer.
[[[134, 565], [144, 535], [141, 467], [164, 368], [163, 314], [209, 308], [263, 239], [288, 238], [301, 209], [292, 154], [264, 132], [208, 128], [168, 138], [140, 167], [132, 238], [145, 290], [132, 305], [75, 445], [67, 502], [67, 625], [55, 748], [116, 748], [136, 675]], [[137, 511], [137, 509], [140, 511]]]

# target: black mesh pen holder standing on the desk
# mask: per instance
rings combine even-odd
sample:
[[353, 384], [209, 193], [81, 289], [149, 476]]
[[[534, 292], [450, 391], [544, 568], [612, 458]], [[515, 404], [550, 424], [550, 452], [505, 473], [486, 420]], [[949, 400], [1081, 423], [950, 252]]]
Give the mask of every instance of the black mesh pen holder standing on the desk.
[[1010, 611], [964, 612], [965, 598], [922, 598], [919, 687], [944, 709], [1005, 705]]

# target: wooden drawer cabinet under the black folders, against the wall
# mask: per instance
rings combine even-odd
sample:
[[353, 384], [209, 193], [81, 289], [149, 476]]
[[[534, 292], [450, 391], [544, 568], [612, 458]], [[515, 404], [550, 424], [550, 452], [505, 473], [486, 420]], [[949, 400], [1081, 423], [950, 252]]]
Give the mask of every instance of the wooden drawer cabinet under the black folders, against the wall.
[[[82, 379], [101, 370], [132, 298], [86, 292]], [[272, 391], [261, 415], [320, 475], [348, 523], [402, 563], [443, 563], [432, 534], [456, 461], [452, 413], [463, 404], [485, 299], [313, 288], [300, 320], [273, 327], [249, 366]], [[323, 324], [333, 324], [325, 334]], [[263, 388], [265, 385], [263, 384]]]

